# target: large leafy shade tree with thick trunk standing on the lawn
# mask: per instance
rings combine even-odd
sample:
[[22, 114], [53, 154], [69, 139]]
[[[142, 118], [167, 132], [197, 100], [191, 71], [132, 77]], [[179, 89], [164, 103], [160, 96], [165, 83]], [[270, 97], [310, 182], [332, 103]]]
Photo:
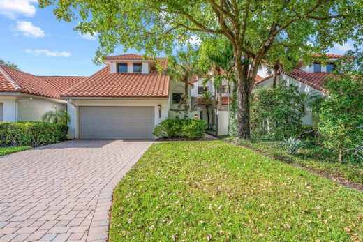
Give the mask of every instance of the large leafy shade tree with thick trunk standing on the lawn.
[[96, 56], [119, 45], [149, 54], [172, 53], [191, 37], [221, 35], [233, 47], [237, 81], [237, 136], [250, 137], [251, 91], [258, 66], [282, 45], [322, 49], [348, 38], [361, 42], [363, 2], [358, 0], [40, 0], [57, 4], [58, 19], [80, 21], [81, 33], [98, 33]]

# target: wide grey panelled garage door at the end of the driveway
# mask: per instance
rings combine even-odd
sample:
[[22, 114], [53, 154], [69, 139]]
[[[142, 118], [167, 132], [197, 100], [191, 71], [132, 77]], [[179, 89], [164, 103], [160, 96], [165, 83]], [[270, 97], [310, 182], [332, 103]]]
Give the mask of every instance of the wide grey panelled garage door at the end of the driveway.
[[154, 107], [80, 107], [81, 139], [154, 139]]

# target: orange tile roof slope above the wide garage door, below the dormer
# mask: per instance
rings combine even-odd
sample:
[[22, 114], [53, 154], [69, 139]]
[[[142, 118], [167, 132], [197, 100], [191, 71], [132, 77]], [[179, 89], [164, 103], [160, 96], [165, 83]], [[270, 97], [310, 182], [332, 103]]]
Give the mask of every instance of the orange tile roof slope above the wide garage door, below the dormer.
[[110, 67], [61, 93], [64, 97], [133, 97], [167, 98], [169, 76], [152, 69], [149, 74], [110, 73]]

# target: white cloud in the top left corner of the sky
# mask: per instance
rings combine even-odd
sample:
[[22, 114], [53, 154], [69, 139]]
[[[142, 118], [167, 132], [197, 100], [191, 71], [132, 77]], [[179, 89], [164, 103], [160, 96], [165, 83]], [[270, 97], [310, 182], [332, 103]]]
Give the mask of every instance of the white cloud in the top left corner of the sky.
[[34, 3], [38, 3], [38, 0], [0, 0], [0, 15], [12, 19], [17, 15], [32, 17], [36, 14]]

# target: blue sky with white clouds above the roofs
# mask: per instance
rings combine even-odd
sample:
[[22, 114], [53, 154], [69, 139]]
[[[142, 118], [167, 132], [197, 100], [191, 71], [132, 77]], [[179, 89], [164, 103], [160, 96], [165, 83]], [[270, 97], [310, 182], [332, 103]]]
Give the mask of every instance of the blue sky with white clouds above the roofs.
[[[58, 22], [52, 7], [37, 0], [0, 0], [0, 59], [16, 63], [34, 75], [92, 75], [103, 66], [92, 63], [97, 36], [73, 31], [77, 22]], [[343, 54], [353, 43], [335, 45], [329, 53]], [[135, 50], [114, 54], [143, 54]]]

